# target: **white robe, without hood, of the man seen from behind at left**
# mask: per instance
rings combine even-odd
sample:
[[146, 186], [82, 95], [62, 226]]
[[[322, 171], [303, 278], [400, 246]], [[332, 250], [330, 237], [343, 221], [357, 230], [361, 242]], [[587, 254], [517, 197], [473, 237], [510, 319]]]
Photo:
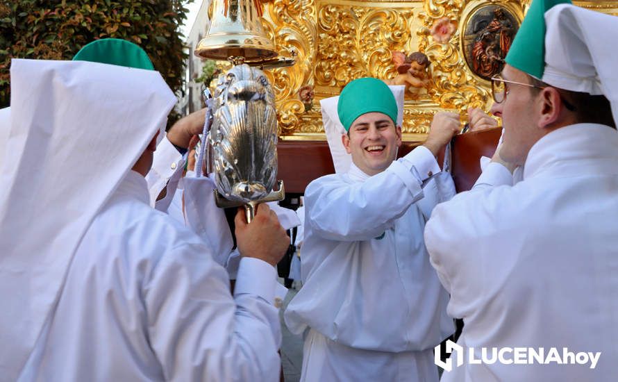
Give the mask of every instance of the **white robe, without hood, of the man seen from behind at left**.
[[81, 240], [19, 381], [278, 381], [274, 267], [225, 270], [130, 172]]

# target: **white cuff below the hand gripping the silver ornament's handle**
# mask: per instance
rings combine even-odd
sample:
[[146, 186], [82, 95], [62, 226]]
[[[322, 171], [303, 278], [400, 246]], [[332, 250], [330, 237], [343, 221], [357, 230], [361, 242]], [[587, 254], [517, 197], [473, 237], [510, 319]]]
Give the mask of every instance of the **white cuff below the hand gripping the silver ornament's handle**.
[[234, 296], [255, 294], [274, 304], [276, 276], [275, 267], [264, 260], [244, 257], [238, 267]]

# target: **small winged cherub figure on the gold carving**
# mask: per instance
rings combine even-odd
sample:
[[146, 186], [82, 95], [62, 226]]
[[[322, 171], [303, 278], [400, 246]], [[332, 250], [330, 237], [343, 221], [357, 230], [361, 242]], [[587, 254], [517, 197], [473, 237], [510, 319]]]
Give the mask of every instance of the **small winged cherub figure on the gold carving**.
[[424, 53], [415, 51], [406, 57], [405, 53], [394, 51], [392, 55], [393, 63], [399, 74], [395, 78], [385, 80], [387, 85], [405, 85], [406, 92], [415, 92], [412, 88], [427, 88], [429, 83], [427, 68], [431, 62]]

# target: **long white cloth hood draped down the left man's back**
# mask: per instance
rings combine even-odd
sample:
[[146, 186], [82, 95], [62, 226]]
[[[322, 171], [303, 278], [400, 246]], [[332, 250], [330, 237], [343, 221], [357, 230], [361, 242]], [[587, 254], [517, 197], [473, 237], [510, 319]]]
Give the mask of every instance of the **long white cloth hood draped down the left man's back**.
[[0, 375], [15, 381], [85, 230], [176, 97], [158, 72], [143, 69], [12, 60], [10, 72], [10, 160], [0, 170]]

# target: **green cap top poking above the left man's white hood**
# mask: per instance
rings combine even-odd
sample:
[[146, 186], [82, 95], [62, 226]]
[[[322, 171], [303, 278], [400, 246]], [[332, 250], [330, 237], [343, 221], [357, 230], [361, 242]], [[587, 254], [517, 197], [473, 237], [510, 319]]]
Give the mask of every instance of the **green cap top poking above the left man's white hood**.
[[144, 49], [119, 38], [103, 38], [90, 42], [77, 52], [73, 60], [154, 70]]

